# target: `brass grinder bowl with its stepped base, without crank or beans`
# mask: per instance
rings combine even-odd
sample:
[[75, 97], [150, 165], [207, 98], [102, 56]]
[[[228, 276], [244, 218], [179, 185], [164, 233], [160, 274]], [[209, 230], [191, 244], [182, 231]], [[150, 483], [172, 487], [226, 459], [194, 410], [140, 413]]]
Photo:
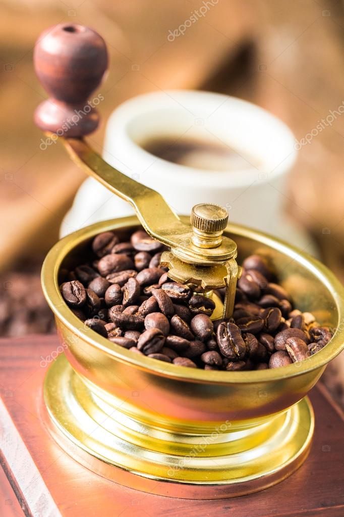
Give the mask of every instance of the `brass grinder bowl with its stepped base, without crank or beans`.
[[272, 370], [205, 371], [150, 359], [87, 328], [59, 291], [67, 270], [87, 260], [96, 234], [125, 237], [137, 227], [136, 217], [93, 224], [63, 238], [45, 259], [43, 291], [64, 352], [44, 384], [51, 433], [93, 472], [145, 492], [209, 499], [281, 481], [309, 450], [314, 417], [305, 396], [343, 348], [343, 287], [302, 251], [228, 224], [238, 263], [252, 253], [266, 256], [294, 305], [334, 329], [332, 340], [314, 356]]

